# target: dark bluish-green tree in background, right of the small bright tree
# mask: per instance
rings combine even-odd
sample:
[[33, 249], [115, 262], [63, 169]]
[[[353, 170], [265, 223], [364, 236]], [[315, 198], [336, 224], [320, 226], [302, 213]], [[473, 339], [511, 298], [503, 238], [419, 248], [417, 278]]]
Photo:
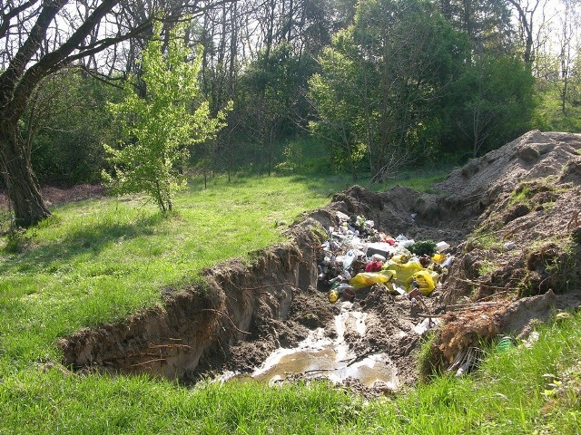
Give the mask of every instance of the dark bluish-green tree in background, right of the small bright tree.
[[235, 163], [250, 160], [261, 173], [271, 173], [278, 163], [292, 170], [281, 145], [299, 139], [300, 126], [308, 118], [303, 89], [314, 67], [311, 56], [297, 53], [284, 41], [257, 53], [241, 74], [230, 117], [235, 133], [229, 137], [231, 143], [222, 147], [228, 152], [221, 150], [216, 160], [233, 151]]

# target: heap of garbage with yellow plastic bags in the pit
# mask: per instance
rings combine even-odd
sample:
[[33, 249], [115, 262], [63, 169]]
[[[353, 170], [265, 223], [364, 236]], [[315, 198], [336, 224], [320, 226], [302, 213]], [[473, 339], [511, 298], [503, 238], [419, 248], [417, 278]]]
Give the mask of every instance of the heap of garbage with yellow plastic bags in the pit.
[[444, 241], [391, 237], [377, 230], [373, 220], [340, 211], [335, 217], [337, 225], [329, 227], [329, 240], [321, 245], [318, 276], [331, 303], [352, 302], [357, 290], [374, 285], [416, 302], [434, 291], [454, 261]]

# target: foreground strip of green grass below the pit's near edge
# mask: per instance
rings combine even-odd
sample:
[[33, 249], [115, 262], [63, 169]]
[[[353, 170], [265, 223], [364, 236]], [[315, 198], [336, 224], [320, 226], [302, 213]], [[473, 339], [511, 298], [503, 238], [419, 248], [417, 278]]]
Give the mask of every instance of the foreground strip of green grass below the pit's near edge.
[[30, 366], [0, 384], [2, 433], [575, 434], [581, 430], [581, 315], [542, 329], [532, 349], [487, 350], [480, 371], [438, 377], [388, 401], [325, 383], [193, 389], [143, 376]]

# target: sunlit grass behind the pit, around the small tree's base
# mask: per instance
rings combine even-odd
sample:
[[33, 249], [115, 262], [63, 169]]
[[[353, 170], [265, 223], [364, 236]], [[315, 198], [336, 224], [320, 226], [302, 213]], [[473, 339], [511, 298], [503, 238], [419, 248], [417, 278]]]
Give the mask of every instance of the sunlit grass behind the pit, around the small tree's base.
[[[282, 240], [281, 227], [329, 199], [289, 178], [213, 179], [162, 218], [143, 199], [68, 204], [0, 256], [0, 340], [5, 358], [57, 357], [54, 340], [157, 303], [164, 285]], [[0, 241], [0, 248], [7, 237]]]

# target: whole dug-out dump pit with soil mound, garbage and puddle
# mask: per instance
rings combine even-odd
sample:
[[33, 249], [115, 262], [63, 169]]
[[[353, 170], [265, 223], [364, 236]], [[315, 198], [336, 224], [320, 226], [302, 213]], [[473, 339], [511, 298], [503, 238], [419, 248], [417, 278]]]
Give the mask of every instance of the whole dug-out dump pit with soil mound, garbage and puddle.
[[530, 131], [430, 193], [354, 186], [251, 262], [61, 339], [64, 364], [184, 383], [326, 378], [370, 397], [478, 370], [482, 346], [532, 340], [581, 304], [580, 150], [581, 135]]

